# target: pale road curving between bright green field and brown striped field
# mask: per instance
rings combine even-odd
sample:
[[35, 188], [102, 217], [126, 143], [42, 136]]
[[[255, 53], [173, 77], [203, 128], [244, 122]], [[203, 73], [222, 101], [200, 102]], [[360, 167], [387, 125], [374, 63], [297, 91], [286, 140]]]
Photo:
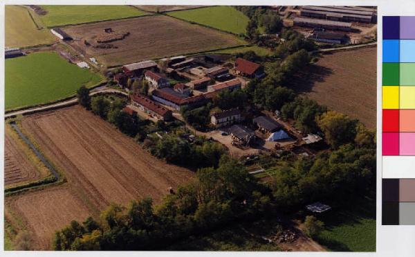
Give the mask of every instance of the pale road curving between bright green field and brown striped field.
[[[125, 96], [128, 96], [128, 94], [125, 93], [124, 91], [121, 91], [119, 89], [109, 89], [107, 87], [97, 87], [96, 89], [92, 89], [89, 95], [94, 96], [96, 94], [102, 94], [102, 93], [118, 93], [118, 94], [123, 94]], [[21, 109], [16, 112], [9, 112], [8, 114], [5, 114], [4, 117], [9, 118], [14, 115], [28, 114], [30, 112], [47, 111], [48, 109], [55, 109], [56, 107], [64, 107], [64, 106], [75, 104], [75, 103], [77, 103], [76, 97], [68, 99], [68, 100], [63, 100], [62, 102], [59, 102], [59, 103], [51, 103], [50, 105], [44, 105], [44, 106], [33, 107], [33, 108], [28, 108], [28, 109]]]

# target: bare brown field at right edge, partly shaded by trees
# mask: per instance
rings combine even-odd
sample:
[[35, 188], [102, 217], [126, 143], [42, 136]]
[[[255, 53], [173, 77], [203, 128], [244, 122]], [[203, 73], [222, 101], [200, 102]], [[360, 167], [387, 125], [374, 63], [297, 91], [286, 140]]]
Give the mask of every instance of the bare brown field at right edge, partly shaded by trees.
[[376, 128], [376, 46], [324, 54], [294, 81], [308, 98]]

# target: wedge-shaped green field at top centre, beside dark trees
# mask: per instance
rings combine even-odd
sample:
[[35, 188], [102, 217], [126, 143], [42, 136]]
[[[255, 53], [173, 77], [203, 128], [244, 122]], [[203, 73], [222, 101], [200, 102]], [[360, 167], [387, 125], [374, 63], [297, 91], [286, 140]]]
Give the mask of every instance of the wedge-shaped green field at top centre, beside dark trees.
[[232, 6], [213, 6], [192, 10], [180, 10], [167, 12], [167, 15], [235, 34], [245, 33], [246, 25], [249, 21], [248, 17]]

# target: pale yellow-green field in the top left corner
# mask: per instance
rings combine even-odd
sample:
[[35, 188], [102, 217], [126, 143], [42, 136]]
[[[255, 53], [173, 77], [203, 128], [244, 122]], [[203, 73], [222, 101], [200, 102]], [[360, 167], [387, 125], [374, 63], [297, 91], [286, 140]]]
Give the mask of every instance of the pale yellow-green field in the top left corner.
[[50, 44], [57, 39], [47, 29], [37, 29], [30, 18], [29, 10], [23, 6], [6, 6], [6, 46], [23, 47]]

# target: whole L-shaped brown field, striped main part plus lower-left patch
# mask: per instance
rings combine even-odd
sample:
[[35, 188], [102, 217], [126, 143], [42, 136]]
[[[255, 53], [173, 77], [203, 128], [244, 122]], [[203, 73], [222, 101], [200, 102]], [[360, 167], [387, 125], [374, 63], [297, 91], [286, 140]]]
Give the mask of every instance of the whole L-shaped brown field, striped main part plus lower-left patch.
[[147, 196], [159, 202], [170, 186], [193, 177], [80, 106], [33, 114], [21, 125], [67, 180], [6, 198], [6, 219], [17, 224], [19, 217], [35, 234], [37, 249], [50, 249], [53, 233], [71, 220], [96, 217], [111, 202], [125, 205]]

